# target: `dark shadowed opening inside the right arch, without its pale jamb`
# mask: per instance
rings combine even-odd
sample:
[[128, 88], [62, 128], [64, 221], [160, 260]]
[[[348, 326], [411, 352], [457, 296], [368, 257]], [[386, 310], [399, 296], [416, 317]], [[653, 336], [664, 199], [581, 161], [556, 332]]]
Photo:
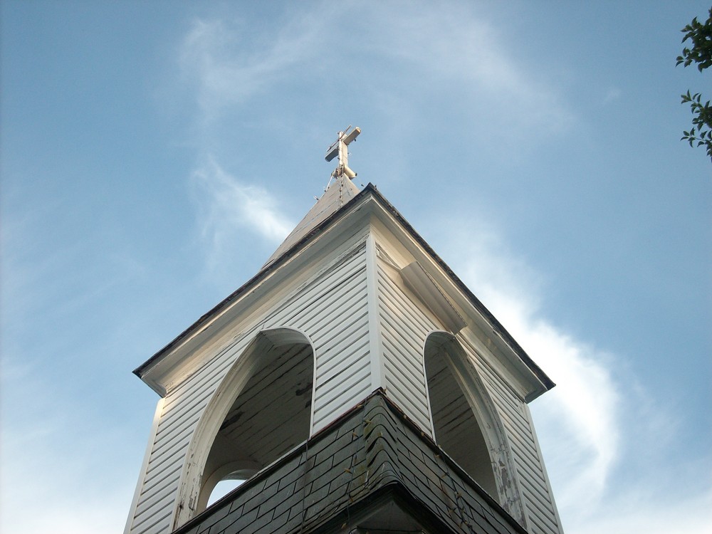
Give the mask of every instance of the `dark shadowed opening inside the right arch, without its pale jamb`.
[[[433, 334], [425, 345], [425, 373], [436, 443], [487, 493], [501, 501], [490, 447], [465, 395], [466, 387], [454, 369], [449, 340]], [[477, 392], [469, 392], [476, 394]]]

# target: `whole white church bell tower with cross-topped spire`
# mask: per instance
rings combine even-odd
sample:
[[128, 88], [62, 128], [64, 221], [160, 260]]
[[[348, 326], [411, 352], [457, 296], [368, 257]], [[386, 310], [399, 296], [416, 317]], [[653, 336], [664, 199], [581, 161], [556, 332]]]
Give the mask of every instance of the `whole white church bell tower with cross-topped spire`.
[[359, 134], [263, 268], [135, 370], [160, 399], [125, 534], [562, 532], [527, 407], [553, 382], [355, 187]]

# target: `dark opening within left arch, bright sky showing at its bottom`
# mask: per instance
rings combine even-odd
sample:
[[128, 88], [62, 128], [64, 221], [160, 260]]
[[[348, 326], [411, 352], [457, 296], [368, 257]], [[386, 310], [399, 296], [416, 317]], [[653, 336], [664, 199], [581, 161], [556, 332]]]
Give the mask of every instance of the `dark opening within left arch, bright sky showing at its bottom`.
[[241, 358], [244, 386], [211, 445], [196, 512], [309, 438], [314, 353], [305, 337], [261, 333]]

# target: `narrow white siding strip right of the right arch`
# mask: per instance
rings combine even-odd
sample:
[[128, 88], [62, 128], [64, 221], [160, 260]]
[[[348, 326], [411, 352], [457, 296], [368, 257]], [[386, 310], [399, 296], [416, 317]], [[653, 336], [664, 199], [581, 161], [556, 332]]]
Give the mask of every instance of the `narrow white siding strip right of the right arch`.
[[560, 534], [555, 505], [526, 405], [506, 385], [502, 377], [478, 357], [476, 350], [463, 336], [459, 336], [459, 340], [479, 372], [504, 425], [517, 469], [530, 532]]

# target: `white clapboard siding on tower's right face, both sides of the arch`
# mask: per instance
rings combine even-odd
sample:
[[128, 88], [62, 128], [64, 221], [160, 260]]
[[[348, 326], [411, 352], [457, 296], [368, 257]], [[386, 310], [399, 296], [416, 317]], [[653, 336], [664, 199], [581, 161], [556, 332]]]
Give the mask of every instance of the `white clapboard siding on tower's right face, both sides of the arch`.
[[[429, 333], [447, 330], [445, 324], [453, 320], [451, 317], [444, 320], [436, 318], [423, 297], [409, 290], [402, 280], [399, 263], [412, 265], [412, 257], [409, 258], [402, 250], [398, 251], [397, 246], [389, 242], [392, 237], [387, 231], [379, 231], [378, 237], [377, 244], [382, 251], [378, 298], [387, 393], [426, 433], [432, 434], [422, 347]], [[394, 249], [397, 253], [392, 252]], [[478, 363], [474, 367], [478, 373], [476, 387], [482, 389], [478, 394], [491, 399], [488, 402], [497, 414], [497, 424], [502, 427], [500, 441], [501, 446], [506, 447], [503, 454], [510, 465], [507, 476], [511, 477], [511, 484], [506, 491], [503, 489], [500, 497], [503, 501], [512, 501], [508, 508], [526, 528], [545, 534], [560, 533], [556, 507], [533, 436], [533, 426], [523, 415], [528, 414], [528, 408], [519, 393], [518, 380], [513, 377], [511, 369], [491, 352], [488, 340], [482, 336], [481, 328], [464, 328], [458, 339], [463, 343], [468, 359], [473, 365]], [[489, 345], [494, 347], [491, 343]], [[513, 496], [511, 491], [515, 491], [516, 495]]]

